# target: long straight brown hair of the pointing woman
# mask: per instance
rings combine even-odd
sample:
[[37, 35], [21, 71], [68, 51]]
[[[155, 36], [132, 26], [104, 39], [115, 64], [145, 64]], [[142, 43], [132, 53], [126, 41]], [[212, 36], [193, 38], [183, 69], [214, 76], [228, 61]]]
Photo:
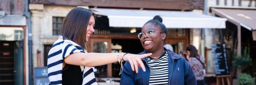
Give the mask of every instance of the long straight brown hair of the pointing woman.
[[93, 15], [92, 11], [85, 8], [76, 7], [72, 9], [66, 15], [62, 24], [61, 36], [63, 39], [76, 42], [83, 49], [88, 50], [86, 30], [91, 15]]

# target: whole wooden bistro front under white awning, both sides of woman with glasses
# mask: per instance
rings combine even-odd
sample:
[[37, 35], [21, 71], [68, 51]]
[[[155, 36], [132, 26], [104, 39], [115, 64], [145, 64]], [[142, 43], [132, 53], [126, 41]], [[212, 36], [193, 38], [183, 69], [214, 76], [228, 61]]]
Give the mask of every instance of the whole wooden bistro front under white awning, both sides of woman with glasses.
[[[113, 28], [114, 29], [114, 28]], [[121, 29], [116, 29], [115, 31]], [[125, 30], [125, 29], [124, 29]], [[138, 29], [137, 32], [140, 32]], [[119, 33], [119, 32], [118, 32]], [[137, 36], [138, 33], [133, 33], [128, 35], [128, 33], [123, 34], [95, 34], [90, 37], [88, 52], [94, 53], [133, 53], [138, 54], [144, 51], [140, 40]], [[189, 44], [189, 29], [168, 29], [168, 38], [165, 44], [170, 44], [174, 48], [175, 53], [184, 51]], [[104, 77], [120, 77], [120, 65], [118, 62], [109, 65], [96, 66], [97, 70], [95, 76], [99, 78]]]

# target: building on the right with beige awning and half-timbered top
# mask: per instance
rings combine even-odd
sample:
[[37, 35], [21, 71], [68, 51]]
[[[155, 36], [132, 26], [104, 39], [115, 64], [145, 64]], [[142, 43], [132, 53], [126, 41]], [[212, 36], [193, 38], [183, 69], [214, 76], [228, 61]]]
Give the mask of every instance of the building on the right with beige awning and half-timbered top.
[[[256, 35], [254, 34], [256, 20], [256, 1], [255, 0], [208, 0], [208, 15], [227, 18], [225, 29], [205, 29], [205, 55], [207, 71], [214, 74], [214, 65], [211, 52], [211, 44], [226, 44], [228, 66], [230, 75], [236, 78], [236, 68], [232, 65], [232, 59], [237, 54], [243, 54], [245, 48], [249, 48], [249, 56], [255, 61]], [[256, 64], [247, 68], [247, 72], [256, 72]], [[238, 71], [238, 70], [237, 70]], [[245, 71], [244, 71], [245, 72]], [[235, 82], [234, 82], [235, 84]]]

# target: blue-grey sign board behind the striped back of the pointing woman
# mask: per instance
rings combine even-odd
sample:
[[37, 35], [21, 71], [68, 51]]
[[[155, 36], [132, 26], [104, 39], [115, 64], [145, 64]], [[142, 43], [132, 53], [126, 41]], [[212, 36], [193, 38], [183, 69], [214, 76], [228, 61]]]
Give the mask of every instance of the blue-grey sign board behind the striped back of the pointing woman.
[[47, 67], [34, 68], [34, 85], [49, 85]]

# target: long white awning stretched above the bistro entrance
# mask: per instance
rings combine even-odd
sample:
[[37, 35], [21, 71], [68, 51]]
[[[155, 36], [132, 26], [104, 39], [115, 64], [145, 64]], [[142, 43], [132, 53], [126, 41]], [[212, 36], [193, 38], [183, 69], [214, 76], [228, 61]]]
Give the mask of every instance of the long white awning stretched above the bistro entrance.
[[155, 15], [163, 18], [167, 28], [226, 28], [227, 19], [194, 12], [159, 11], [159, 10], [131, 10], [92, 8], [95, 14], [106, 15], [110, 27], [142, 27], [145, 22]]

